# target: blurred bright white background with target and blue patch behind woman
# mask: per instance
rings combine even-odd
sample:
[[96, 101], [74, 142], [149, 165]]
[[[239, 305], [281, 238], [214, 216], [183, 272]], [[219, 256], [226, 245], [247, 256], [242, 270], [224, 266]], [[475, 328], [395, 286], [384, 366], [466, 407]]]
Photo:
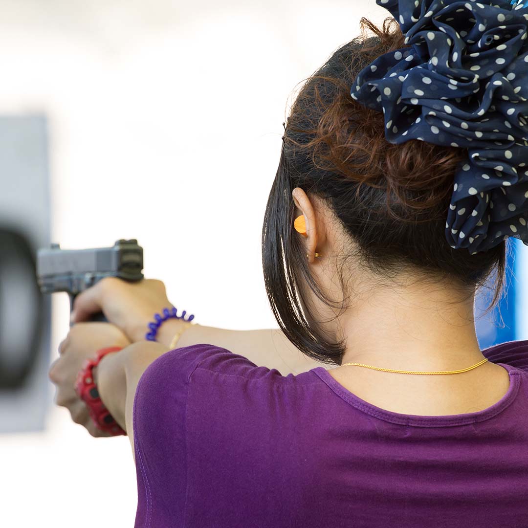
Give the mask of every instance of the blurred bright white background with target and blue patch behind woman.
[[[0, 12], [0, 523], [133, 526], [128, 440], [92, 438], [53, 404], [69, 300], [36, 291], [36, 249], [137, 239], [145, 276], [196, 322], [276, 328], [260, 236], [287, 105], [361, 16], [386, 11], [0, 0]], [[502, 321], [478, 321], [481, 348], [528, 338], [528, 248], [508, 244]], [[96, 507], [94, 490], [108, 498]]]

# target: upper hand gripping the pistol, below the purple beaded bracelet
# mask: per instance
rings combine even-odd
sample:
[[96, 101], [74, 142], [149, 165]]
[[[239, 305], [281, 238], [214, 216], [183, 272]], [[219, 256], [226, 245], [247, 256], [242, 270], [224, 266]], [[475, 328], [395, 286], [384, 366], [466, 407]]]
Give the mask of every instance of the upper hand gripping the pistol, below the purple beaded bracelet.
[[130, 341], [142, 341], [154, 314], [173, 306], [167, 299], [161, 280], [142, 279], [127, 282], [117, 277], [105, 277], [82, 291], [73, 302], [73, 323], [90, 319], [102, 312], [110, 323], [118, 326]]

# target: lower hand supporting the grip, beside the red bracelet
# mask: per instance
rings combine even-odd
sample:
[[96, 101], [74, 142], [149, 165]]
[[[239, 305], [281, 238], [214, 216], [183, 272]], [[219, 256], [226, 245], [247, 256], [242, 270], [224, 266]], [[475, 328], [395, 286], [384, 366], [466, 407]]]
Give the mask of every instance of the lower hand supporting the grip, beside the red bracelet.
[[55, 403], [70, 411], [74, 422], [88, 429], [91, 436], [111, 436], [96, 427], [88, 413], [88, 407], [75, 392], [77, 374], [84, 361], [94, 359], [100, 348], [130, 344], [127, 336], [110, 323], [77, 323], [59, 345], [59, 358], [50, 366], [48, 376], [56, 385]]

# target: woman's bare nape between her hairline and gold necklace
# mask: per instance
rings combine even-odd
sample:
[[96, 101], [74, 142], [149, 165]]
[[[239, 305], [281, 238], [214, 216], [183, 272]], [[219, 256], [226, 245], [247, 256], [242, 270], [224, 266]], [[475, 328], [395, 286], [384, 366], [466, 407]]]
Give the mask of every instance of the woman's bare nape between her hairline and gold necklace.
[[474, 295], [455, 304], [456, 295], [460, 296], [446, 288], [370, 290], [340, 319], [346, 338], [343, 363], [444, 371], [465, 369], [482, 361], [485, 356], [475, 332]]

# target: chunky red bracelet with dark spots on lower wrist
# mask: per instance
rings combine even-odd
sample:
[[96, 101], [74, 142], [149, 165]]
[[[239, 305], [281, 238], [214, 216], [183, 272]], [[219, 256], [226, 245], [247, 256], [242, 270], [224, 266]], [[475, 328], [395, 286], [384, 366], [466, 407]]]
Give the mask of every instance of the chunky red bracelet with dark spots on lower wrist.
[[109, 432], [112, 436], [126, 435], [126, 432], [121, 429], [103, 404], [97, 386], [93, 381], [92, 370], [93, 367], [99, 364], [103, 356], [119, 350], [122, 350], [119, 346], [109, 346], [98, 350], [95, 359], [84, 361], [75, 382], [75, 392], [86, 403], [93, 423], [98, 429]]

